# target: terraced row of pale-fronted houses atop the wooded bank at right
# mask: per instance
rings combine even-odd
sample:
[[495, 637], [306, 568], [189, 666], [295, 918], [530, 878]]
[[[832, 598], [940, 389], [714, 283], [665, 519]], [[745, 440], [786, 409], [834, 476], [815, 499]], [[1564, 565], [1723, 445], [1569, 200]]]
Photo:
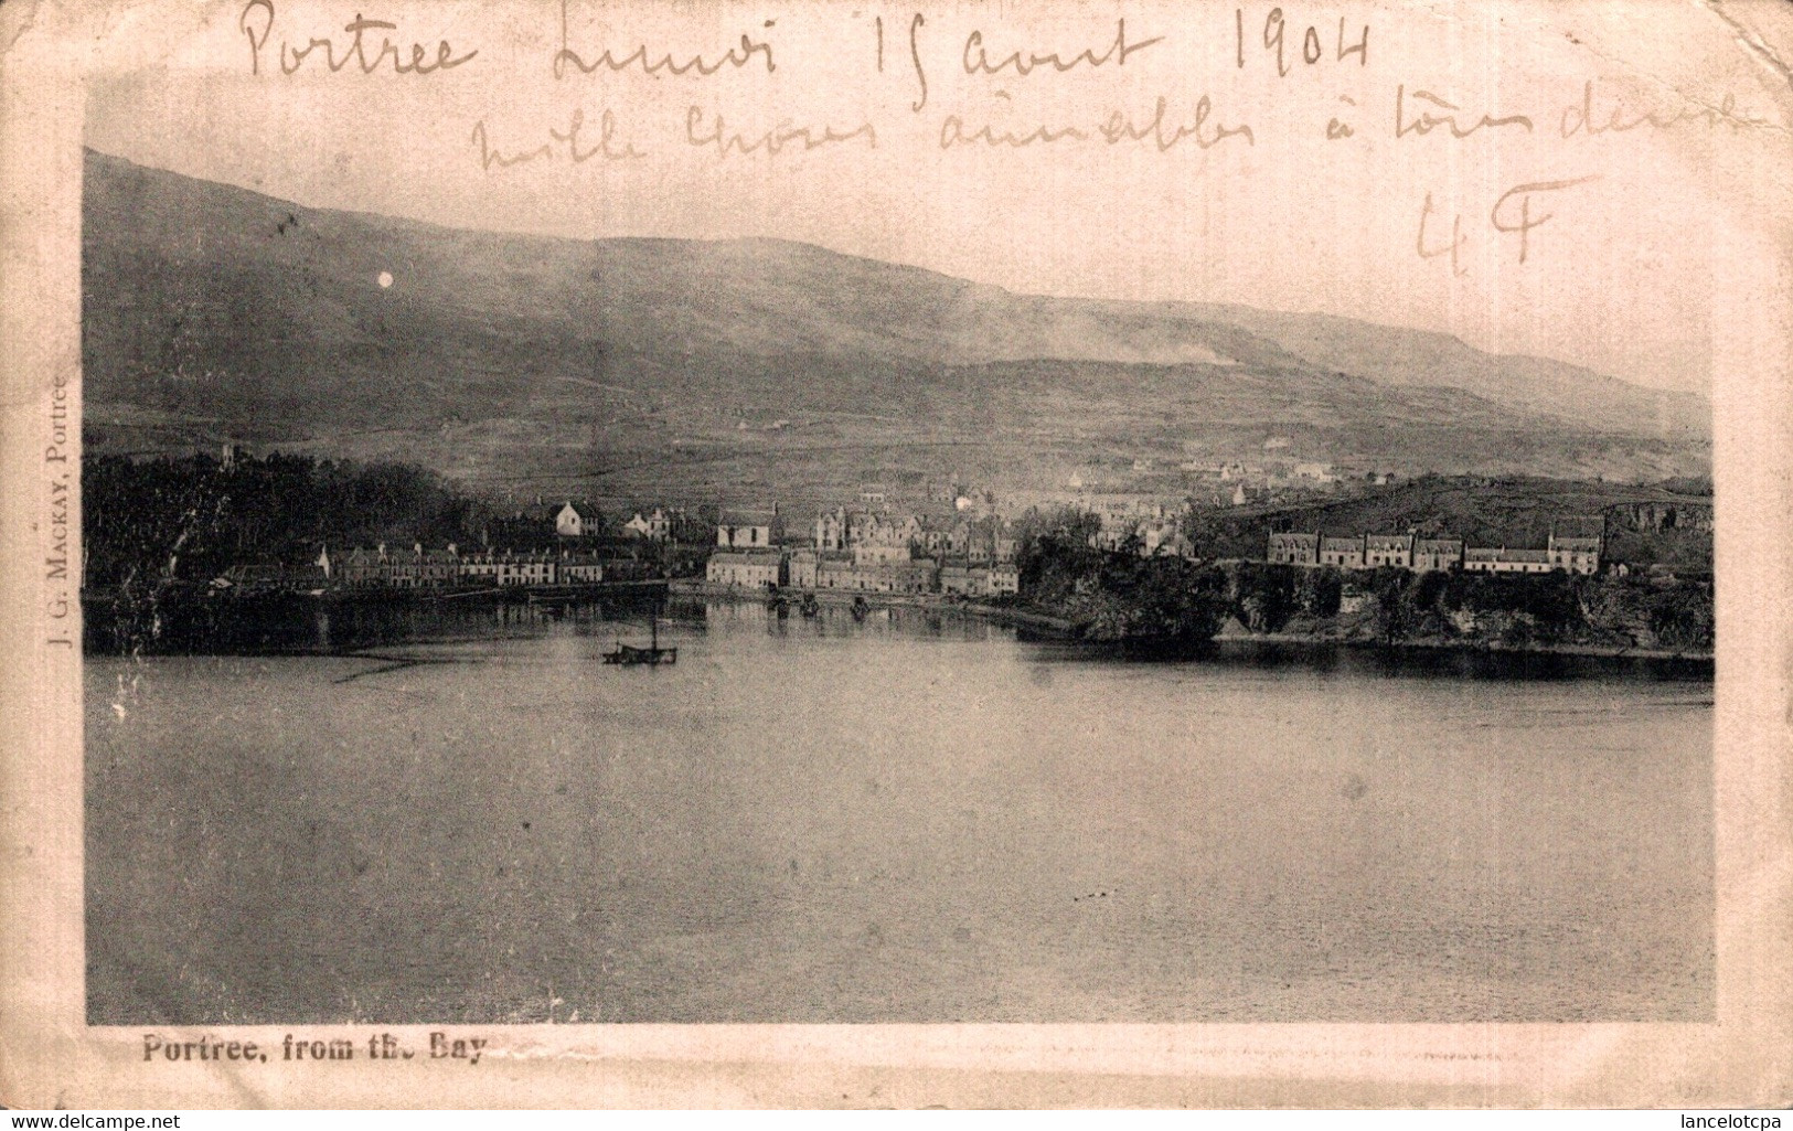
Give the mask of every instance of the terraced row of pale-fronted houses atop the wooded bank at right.
[[1312, 532], [1271, 534], [1266, 561], [1295, 566], [1375, 570], [1395, 566], [1416, 574], [1465, 570], [1470, 574], [1598, 574], [1605, 540], [1560, 536], [1551, 531], [1544, 548], [1470, 547], [1461, 538], [1416, 534], [1354, 534], [1332, 538]]

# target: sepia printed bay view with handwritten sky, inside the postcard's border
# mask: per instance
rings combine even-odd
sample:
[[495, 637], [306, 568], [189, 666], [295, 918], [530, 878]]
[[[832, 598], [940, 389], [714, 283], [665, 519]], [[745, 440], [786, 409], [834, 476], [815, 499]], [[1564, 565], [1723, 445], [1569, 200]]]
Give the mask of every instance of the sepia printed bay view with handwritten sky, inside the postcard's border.
[[1750, 5], [1623, 7], [249, 0], [95, 68], [82, 1023], [1719, 1025], [1789, 100]]

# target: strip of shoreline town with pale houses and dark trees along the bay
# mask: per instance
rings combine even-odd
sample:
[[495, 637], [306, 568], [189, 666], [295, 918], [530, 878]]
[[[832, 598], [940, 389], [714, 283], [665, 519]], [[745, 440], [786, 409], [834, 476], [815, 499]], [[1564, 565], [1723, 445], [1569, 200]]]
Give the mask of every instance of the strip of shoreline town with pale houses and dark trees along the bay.
[[[172, 609], [178, 591], [212, 602], [368, 602], [672, 586], [957, 606], [1047, 633], [1142, 643], [1255, 638], [1694, 656], [1712, 647], [1709, 568], [1612, 554], [1615, 541], [1648, 550], [1653, 531], [1709, 543], [1711, 507], [1698, 502], [1553, 511], [1542, 516], [1542, 545], [1515, 547], [1456, 536], [1436, 516], [1404, 531], [1382, 522], [1381, 531], [1345, 532], [1338, 518], [1302, 511], [1257, 516], [1253, 538], [1252, 527], [1217, 531], [1216, 514], [1226, 511], [1122, 491], [905, 496], [868, 484], [857, 498], [796, 516], [776, 502], [606, 514], [572, 498], [475, 513], [418, 471], [373, 466], [339, 482], [341, 470], [303, 459], [226, 455], [100, 468], [93, 495], [102, 505], [108, 495], [127, 502], [143, 482], [152, 505], [133, 511], [136, 527], [90, 523], [90, 615], [129, 617], [143, 599]], [[1386, 489], [1375, 484], [1356, 504]], [[170, 502], [194, 514], [213, 495], [213, 523], [170, 522]], [[371, 507], [359, 502], [369, 495]], [[337, 496], [411, 520], [341, 513]], [[332, 547], [330, 523], [312, 511], [330, 511], [348, 548]], [[368, 545], [357, 531], [416, 536]], [[432, 531], [446, 538], [427, 541]], [[319, 540], [298, 550], [310, 532]]]

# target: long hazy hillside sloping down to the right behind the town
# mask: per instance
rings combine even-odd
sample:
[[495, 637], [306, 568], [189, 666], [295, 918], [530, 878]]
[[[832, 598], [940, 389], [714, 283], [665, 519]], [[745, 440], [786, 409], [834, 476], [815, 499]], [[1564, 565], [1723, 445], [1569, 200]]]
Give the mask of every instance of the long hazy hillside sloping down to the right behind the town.
[[230, 439], [409, 459], [500, 493], [1051, 486], [1273, 434], [1404, 471], [1711, 464], [1696, 398], [1442, 335], [1015, 296], [773, 240], [457, 231], [95, 152], [82, 301], [99, 450]]

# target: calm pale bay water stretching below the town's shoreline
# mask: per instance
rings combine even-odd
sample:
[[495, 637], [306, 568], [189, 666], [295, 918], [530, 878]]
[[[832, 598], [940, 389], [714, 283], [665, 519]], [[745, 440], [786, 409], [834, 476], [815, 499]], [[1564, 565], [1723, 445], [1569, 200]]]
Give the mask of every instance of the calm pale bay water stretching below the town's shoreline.
[[1709, 681], [384, 617], [88, 658], [95, 1023], [1712, 1016]]

